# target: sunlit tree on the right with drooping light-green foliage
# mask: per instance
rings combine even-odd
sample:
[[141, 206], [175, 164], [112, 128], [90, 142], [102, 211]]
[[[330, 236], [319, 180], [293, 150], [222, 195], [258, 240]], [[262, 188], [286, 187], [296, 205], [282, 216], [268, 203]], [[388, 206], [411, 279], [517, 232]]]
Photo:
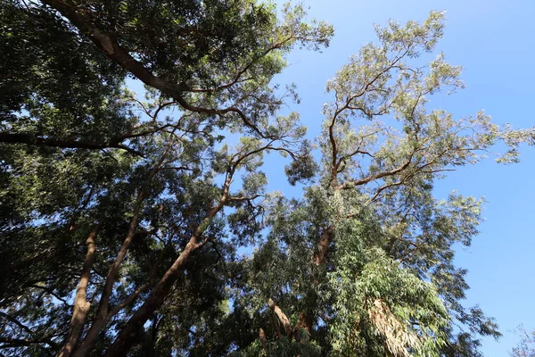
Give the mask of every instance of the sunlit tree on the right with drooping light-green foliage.
[[376, 28], [378, 44], [327, 83], [317, 184], [270, 208], [268, 241], [240, 286], [254, 288], [242, 300], [255, 311], [271, 299], [296, 351], [305, 341], [317, 354], [327, 345], [335, 355], [477, 355], [478, 335], [499, 336], [492, 319], [460, 303], [465, 270], [452, 263], [456, 245], [477, 234], [481, 200], [439, 201], [432, 188], [499, 140], [510, 150], [498, 161], [517, 161], [533, 131], [500, 129], [482, 112], [454, 119], [428, 109], [431, 95], [463, 87], [444, 54], [421, 56], [442, 30], [440, 12]]

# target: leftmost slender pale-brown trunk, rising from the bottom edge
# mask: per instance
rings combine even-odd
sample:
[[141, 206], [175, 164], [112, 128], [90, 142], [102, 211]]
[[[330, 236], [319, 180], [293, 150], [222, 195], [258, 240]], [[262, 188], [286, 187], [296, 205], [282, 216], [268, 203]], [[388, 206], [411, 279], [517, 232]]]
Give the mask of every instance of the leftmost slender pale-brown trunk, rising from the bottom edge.
[[72, 319], [70, 320], [69, 335], [65, 339], [65, 344], [62, 346], [58, 357], [69, 357], [72, 353], [74, 346], [78, 343], [78, 339], [84, 329], [86, 323], [87, 311], [89, 311], [90, 303], [86, 300], [87, 284], [91, 277], [91, 267], [95, 260], [95, 237], [98, 233], [100, 225], [95, 226], [89, 237], [87, 237], [87, 253], [82, 273], [80, 275], [80, 281], [78, 283], [78, 289], [74, 297], [74, 309], [72, 311]]

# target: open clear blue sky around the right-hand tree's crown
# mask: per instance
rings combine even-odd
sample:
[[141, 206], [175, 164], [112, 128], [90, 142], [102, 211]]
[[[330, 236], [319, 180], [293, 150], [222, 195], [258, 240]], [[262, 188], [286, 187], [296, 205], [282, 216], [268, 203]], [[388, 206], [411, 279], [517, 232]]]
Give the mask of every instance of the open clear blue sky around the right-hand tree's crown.
[[[301, 103], [292, 106], [316, 135], [323, 120], [321, 107], [329, 97], [325, 82], [350, 54], [374, 41], [373, 24], [388, 19], [422, 21], [431, 10], [447, 11], [445, 36], [438, 46], [452, 64], [465, 68], [466, 88], [445, 100], [440, 109], [459, 117], [483, 109], [497, 123], [515, 128], [535, 125], [535, 1], [532, 0], [305, 0], [310, 18], [329, 21], [335, 34], [322, 54], [296, 51], [291, 66], [277, 79], [295, 82]], [[439, 109], [437, 107], [436, 109]], [[479, 304], [498, 320], [504, 336], [483, 340], [485, 356], [506, 356], [519, 338], [520, 323], [535, 328], [535, 147], [523, 147], [522, 162], [505, 166], [489, 159], [461, 168], [440, 181], [437, 197], [457, 189], [463, 195], [484, 196], [488, 203], [481, 234], [470, 248], [460, 250], [458, 265], [469, 273], [466, 305]], [[271, 161], [271, 160], [270, 160]], [[273, 163], [273, 162], [272, 162]], [[272, 167], [276, 170], [276, 168]], [[270, 170], [270, 169], [268, 169]], [[270, 182], [279, 188], [282, 179]], [[284, 187], [287, 194], [291, 188]]]

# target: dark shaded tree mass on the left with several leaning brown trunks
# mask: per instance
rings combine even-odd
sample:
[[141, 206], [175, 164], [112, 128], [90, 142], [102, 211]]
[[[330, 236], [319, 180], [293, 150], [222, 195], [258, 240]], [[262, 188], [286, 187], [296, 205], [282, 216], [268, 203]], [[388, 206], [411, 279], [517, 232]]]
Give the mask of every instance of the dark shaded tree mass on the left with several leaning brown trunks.
[[[213, 271], [234, 259], [224, 207], [258, 211], [264, 152], [308, 154], [297, 117], [274, 115], [292, 88], [270, 79], [331, 28], [251, 1], [8, 1], [1, 13], [2, 347], [124, 354], [148, 323], [149, 351], [175, 349], [173, 336], [155, 345], [158, 329], [178, 319], [189, 336], [225, 299]], [[152, 86], [146, 100], [127, 75]], [[242, 137], [220, 145], [223, 133]], [[162, 320], [180, 289], [189, 307]]]

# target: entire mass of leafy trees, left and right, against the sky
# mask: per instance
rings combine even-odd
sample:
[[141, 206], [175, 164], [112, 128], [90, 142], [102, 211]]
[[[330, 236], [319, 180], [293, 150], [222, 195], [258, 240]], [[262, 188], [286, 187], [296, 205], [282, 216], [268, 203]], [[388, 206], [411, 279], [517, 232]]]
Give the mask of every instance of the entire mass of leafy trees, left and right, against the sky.
[[274, 81], [333, 36], [301, 5], [4, 1], [0, 353], [480, 355], [498, 326], [453, 257], [482, 201], [432, 190], [535, 131], [431, 107], [463, 87], [444, 22], [377, 26], [310, 138]]

